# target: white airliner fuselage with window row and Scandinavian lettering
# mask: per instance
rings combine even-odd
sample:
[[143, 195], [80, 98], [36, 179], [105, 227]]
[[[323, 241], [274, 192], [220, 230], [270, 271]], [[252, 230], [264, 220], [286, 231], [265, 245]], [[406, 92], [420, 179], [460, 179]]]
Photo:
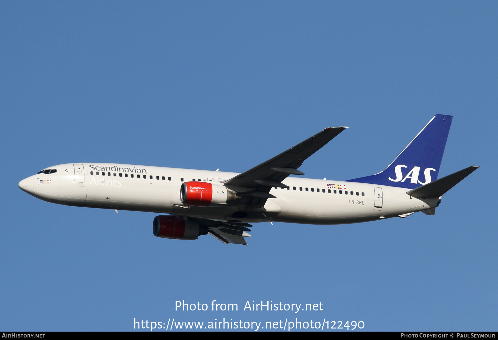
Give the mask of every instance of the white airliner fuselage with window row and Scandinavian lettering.
[[[174, 169], [103, 163], [63, 164], [19, 183], [24, 191], [52, 203], [177, 214], [219, 221], [277, 221], [306, 224], [346, 224], [407, 215], [434, 208], [439, 199], [420, 199], [408, 189], [346, 181], [287, 177], [289, 188], [272, 188], [263, 207], [222, 204], [183, 205], [185, 181], [219, 182], [235, 172]], [[244, 211], [244, 215], [237, 215]], [[247, 214], [246, 214], [247, 213]], [[235, 215], [234, 215], [235, 214]]]

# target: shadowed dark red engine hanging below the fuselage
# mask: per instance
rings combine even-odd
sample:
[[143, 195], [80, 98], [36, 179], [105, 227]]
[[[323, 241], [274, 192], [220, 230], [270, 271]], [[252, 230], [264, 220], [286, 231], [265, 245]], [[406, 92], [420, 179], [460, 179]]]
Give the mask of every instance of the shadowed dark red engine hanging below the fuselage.
[[154, 236], [164, 239], [196, 240], [199, 235], [207, 234], [204, 229], [197, 221], [178, 215], [159, 215], [152, 223]]

